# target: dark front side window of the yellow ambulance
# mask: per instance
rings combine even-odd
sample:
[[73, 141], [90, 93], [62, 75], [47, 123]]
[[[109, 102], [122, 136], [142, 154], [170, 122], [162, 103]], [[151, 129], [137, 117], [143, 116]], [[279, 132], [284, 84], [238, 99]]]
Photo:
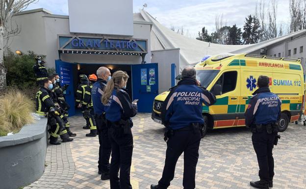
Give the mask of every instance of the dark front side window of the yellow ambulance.
[[230, 71], [223, 73], [215, 84], [221, 85], [222, 94], [235, 90], [237, 84], [237, 72]]

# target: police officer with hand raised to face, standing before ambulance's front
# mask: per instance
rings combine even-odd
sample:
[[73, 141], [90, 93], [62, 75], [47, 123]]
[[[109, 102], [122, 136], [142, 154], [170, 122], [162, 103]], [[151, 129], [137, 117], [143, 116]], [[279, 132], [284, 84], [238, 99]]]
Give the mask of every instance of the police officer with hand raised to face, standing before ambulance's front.
[[216, 97], [196, 80], [196, 70], [185, 68], [182, 80], [173, 87], [162, 107], [162, 121], [166, 126], [167, 151], [162, 178], [151, 189], [167, 189], [174, 178], [175, 166], [184, 152], [184, 189], [195, 188], [196, 165], [199, 158], [203, 103], [211, 106]]

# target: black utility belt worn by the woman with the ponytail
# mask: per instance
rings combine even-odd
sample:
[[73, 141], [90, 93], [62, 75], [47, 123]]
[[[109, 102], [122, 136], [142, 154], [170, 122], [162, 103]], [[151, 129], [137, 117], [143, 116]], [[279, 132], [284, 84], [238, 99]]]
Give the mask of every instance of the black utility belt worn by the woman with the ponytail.
[[115, 137], [122, 137], [126, 134], [132, 134], [132, 122], [128, 120], [121, 119], [120, 121], [111, 122], [110, 128], [112, 128], [112, 134]]

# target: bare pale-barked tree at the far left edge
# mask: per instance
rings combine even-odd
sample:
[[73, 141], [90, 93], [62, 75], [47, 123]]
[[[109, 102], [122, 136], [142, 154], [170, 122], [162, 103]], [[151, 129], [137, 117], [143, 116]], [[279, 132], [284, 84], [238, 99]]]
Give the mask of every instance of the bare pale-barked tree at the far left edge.
[[[38, 0], [0, 0], [0, 90], [6, 87], [6, 69], [3, 65], [4, 39], [20, 32], [19, 27], [8, 27], [12, 17], [26, 9], [30, 4]], [[12, 25], [11, 25], [12, 26]]]

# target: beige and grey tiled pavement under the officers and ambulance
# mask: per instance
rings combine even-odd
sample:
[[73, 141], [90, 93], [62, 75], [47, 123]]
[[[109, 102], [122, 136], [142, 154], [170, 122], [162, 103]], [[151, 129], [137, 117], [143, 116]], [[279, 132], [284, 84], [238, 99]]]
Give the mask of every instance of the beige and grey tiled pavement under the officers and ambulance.
[[[163, 126], [154, 123], [151, 114], [138, 114], [133, 122], [131, 182], [133, 189], [149, 189], [162, 174]], [[82, 129], [85, 121], [81, 116], [71, 117], [70, 123], [77, 133], [75, 140], [49, 145], [45, 173], [25, 189], [109, 189], [109, 181], [101, 181], [97, 173], [98, 136], [85, 137], [89, 130]], [[274, 189], [306, 189], [306, 127], [290, 124], [280, 135], [274, 149]], [[182, 173], [183, 156], [169, 189], [182, 189]], [[258, 179], [257, 173], [251, 133], [246, 128], [214, 130], [202, 139], [197, 189], [252, 189], [249, 182]]]

